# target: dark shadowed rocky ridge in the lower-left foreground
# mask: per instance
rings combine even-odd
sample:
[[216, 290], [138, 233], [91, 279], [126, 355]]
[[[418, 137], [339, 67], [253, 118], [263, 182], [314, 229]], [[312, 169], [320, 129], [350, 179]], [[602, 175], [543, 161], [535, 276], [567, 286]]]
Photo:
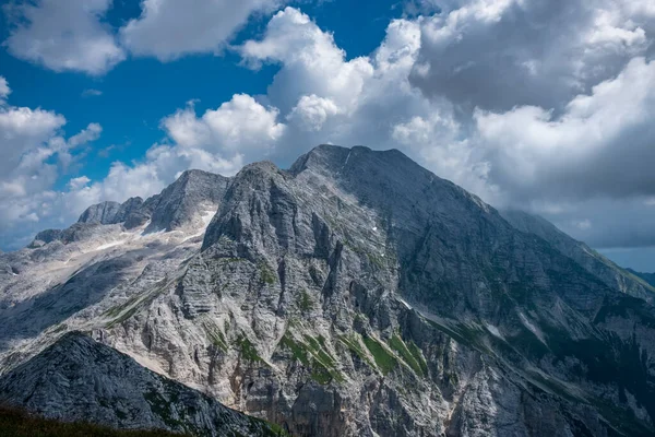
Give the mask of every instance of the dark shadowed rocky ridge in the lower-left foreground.
[[0, 400], [66, 421], [206, 436], [274, 436], [270, 424], [71, 332], [0, 378]]

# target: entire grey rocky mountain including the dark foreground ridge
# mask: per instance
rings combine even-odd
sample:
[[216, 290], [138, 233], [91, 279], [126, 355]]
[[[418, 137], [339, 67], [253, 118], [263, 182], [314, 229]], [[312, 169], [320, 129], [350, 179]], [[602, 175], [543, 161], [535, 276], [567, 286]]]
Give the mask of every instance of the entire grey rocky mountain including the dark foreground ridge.
[[654, 296], [398, 151], [321, 145], [0, 255], [0, 398], [196, 435], [653, 436]]

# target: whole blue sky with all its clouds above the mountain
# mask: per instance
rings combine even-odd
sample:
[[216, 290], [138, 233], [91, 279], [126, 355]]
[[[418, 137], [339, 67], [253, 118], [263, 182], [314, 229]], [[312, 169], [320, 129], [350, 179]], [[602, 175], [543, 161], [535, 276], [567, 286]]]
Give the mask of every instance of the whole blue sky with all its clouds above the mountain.
[[396, 147], [655, 271], [650, 0], [2, 2], [0, 247], [195, 167]]

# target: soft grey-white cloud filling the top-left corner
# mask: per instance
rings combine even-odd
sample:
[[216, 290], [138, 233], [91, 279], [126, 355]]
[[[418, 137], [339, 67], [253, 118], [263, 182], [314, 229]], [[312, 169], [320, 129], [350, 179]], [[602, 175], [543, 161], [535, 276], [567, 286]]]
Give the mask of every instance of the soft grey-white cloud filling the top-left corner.
[[126, 58], [100, 23], [112, 0], [38, 0], [9, 3], [11, 31], [4, 46], [21, 59], [55, 71], [103, 74]]

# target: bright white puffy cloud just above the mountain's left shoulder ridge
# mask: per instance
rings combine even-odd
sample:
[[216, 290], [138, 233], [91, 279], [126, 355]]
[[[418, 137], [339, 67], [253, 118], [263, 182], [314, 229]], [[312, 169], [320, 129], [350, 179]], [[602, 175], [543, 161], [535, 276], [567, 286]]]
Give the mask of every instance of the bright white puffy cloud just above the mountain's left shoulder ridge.
[[[190, 103], [162, 120], [170, 144], [153, 145], [143, 160], [132, 165], [114, 163], [102, 180], [71, 179], [69, 191], [57, 193], [52, 199], [52, 209], [66, 209], [70, 217], [76, 217], [85, 208], [100, 201], [146, 198], [162, 191], [189, 168], [234, 175], [243, 164], [260, 160], [274, 147], [285, 131], [285, 125], [276, 118], [275, 109], [247, 95], [236, 94], [202, 117], [195, 115]], [[68, 143], [90, 140], [97, 133], [99, 129], [92, 125]]]

